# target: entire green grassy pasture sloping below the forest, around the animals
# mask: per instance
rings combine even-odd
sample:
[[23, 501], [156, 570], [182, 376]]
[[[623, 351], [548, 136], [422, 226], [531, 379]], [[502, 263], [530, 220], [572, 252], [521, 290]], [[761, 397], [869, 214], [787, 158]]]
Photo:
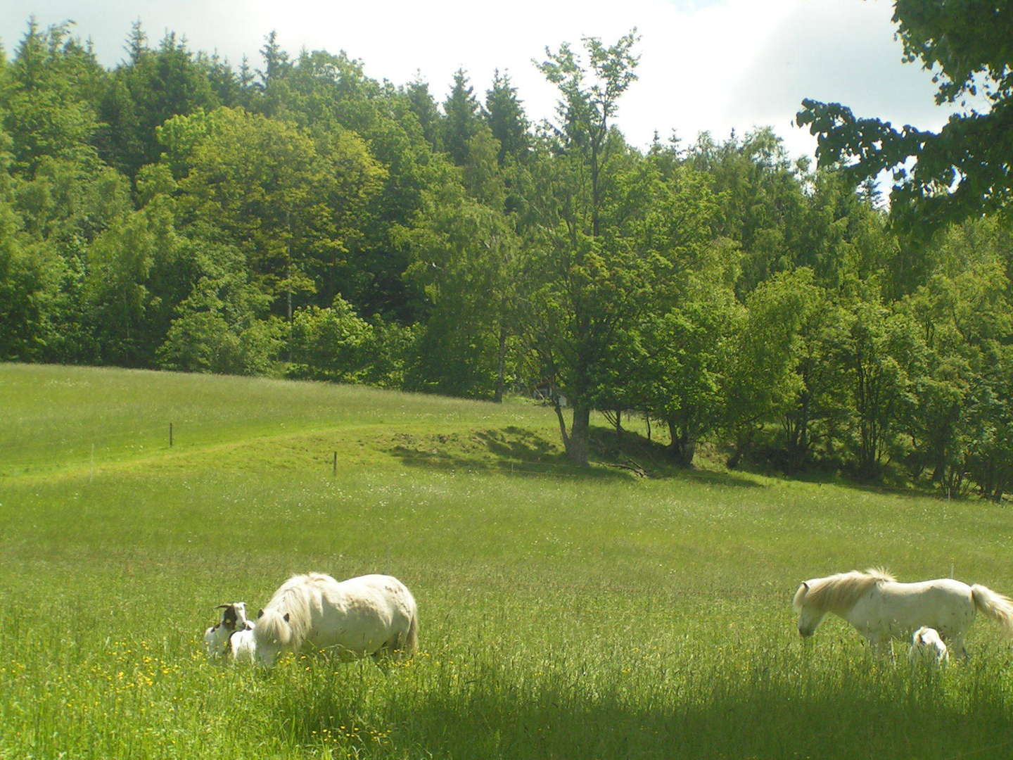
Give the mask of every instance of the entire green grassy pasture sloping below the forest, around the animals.
[[[803, 644], [790, 601], [872, 564], [1011, 593], [1010, 528], [979, 502], [578, 472], [521, 402], [0, 365], [0, 758], [1008, 757], [997, 626], [913, 677], [837, 619]], [[420, 654], [206, 661], [214, 605], [309, 569], [402, 579]]]

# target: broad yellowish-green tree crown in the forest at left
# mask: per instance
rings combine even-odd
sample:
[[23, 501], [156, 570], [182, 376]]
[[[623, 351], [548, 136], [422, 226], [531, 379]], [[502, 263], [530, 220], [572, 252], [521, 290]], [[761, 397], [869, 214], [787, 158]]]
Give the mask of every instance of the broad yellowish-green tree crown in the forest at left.
[[183, 213], [236, 241], [276, 311], [288, 317], [294, 302], [333, 296], [382, 168], [343, 130], [314, 140], [294, 125], [230, 108], [211, 120], [179, 182]]

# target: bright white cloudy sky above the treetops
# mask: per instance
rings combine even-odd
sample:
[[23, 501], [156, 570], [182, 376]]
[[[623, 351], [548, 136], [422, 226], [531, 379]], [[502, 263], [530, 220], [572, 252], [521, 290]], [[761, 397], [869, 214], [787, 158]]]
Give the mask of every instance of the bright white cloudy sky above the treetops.
[[[488, 6], [488, 9], [486, 9]], [[620, 101], [619, 126], [645, 147], [656, 131], [686, 142], [721, 140], [771, 126], [792, 156], [815, 142], [792, 126], [803, 97], [838, 101], [859, 116], [939, 129], [931, 75], [902, 64], [889, 0], [6, 0], [0, 40], [13, 55], [30, 15], [41, 26], [72, 19], [100, 62], [124, 60], [131, 24], [152, 45], [167, 30], [194, 51], [218, 52], [238, 68], [261, 66], [276, 30], [282, 48], [344, 51], [376, 79], [405, 84], [420, 73], [442, 100], [464, 68], [484, 99], [505, 71], [533, 121], [551, 118], [555, 90], [535, 69], [546, 47], [599, 36], [612, 44], [636, 27], [639, 79]]]

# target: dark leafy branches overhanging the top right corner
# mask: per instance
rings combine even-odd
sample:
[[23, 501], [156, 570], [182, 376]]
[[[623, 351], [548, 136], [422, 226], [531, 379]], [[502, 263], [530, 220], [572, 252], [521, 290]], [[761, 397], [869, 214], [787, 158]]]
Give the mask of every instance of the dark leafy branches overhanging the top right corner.
[[[907, 61], [930, 69], [939, 104], [960, 103], [938, 132], [858, 119], [840, 103], [803, 100], [800, 125], [819, 138], [822, 164], [844, 162], [860, 180], [893, 169], [891, 213], [909, 231], [993, 211], [1013, 197], [1013, 0], [895, 0]], [[981, 97], [984, 108], [966, 107]], [[912, 161], [912, 159], [914, 159]]]

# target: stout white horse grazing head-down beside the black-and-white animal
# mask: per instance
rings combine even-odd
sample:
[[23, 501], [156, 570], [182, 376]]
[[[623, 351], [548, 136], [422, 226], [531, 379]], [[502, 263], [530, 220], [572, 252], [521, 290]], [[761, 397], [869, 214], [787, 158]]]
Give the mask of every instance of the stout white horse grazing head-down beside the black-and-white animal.
[[284, 652], [328, 650], [342, 659], [410, 656], [418, 647], [414, 597], [390, 576], [338, 583], [330, 576], [294, 576], [275, 592], [253, 629], [264, 667]]

